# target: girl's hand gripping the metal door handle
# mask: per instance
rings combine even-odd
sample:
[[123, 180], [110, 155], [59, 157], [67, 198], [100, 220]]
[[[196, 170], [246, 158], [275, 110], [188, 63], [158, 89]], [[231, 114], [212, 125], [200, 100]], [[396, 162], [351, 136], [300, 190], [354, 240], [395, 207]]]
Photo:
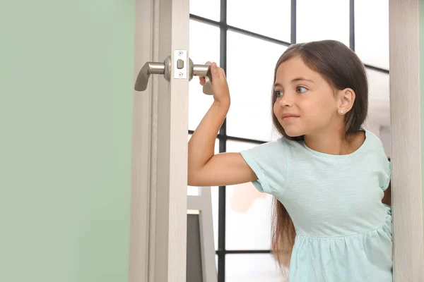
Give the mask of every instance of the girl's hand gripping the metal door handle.
[[[216, 66], [216, 63], [211, 63], [210, 61], [206, 62], [206, 65], [211, 66], [213, 99], [219, 104], [230, 104], [230, 90], [228, 90], [224, 70]], [[204, 85], [206, 83], [205, 77], [200, 76], [199, 78], [200, 84]]]

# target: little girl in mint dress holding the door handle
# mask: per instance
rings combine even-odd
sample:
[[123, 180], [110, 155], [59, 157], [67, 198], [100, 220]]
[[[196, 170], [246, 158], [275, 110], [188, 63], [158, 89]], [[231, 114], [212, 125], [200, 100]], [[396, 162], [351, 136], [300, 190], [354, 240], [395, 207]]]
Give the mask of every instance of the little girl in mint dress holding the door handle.
[[188, 184], [252, 181], [273, 195], [271, 247], [290, 282], [392, 281], [390, 163], [362, 128], [368, 87], [358, 56], [332, 40], [290, 45], [271, 98], [282, 137], [222, 154], [213, 149], [230, 94], [224, 71], [208, 64], [214, 100], [189, 141]]

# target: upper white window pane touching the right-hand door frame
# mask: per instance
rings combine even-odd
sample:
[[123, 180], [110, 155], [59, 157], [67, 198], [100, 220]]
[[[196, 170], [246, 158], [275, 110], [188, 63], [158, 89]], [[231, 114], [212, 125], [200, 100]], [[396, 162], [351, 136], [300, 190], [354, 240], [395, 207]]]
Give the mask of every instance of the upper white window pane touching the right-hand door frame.
[[364, 63], [389, 69], [389, 0], [355, 1], [355, 52]]

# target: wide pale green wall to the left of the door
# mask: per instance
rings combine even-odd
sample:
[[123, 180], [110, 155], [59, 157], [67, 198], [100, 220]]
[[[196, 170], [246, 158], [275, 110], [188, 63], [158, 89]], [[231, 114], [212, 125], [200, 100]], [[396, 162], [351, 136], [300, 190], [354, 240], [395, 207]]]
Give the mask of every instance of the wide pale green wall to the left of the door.
[[134, 0], [0, 4], [0, 281], [127, 281]]

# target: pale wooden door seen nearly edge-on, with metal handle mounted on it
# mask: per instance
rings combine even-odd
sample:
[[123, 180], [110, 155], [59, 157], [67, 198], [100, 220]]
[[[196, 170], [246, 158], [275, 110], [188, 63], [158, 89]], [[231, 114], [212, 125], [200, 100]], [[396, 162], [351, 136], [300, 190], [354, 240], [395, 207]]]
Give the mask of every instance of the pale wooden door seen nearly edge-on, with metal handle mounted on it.
[[[134, 81], [168, 56], [182, 54], [187, 70], [188, 30], [189, 0], [136, 0]], [[189, 80], [179, 73], [134, 92], [129, 281], [185, 281]]]

